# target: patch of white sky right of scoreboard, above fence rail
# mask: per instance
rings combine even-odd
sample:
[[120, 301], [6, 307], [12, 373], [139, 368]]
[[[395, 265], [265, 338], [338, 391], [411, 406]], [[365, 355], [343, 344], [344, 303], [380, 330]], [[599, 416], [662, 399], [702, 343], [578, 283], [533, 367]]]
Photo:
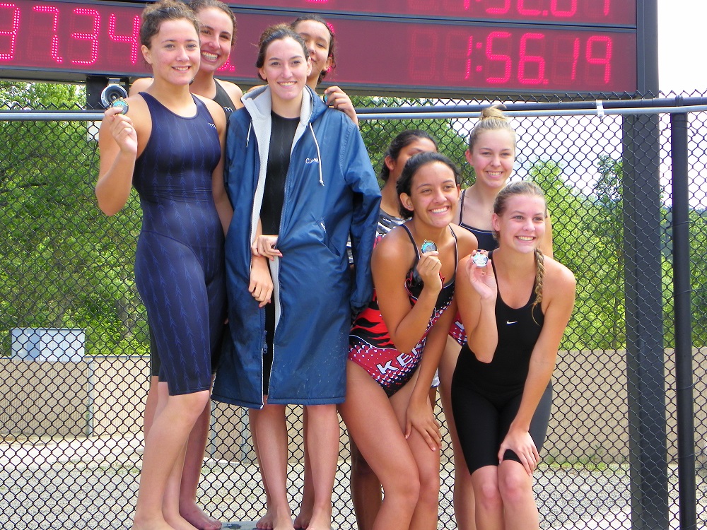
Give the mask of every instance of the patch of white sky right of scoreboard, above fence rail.
[[707, 93], [707, 0], [658, 0], [658, 88]]

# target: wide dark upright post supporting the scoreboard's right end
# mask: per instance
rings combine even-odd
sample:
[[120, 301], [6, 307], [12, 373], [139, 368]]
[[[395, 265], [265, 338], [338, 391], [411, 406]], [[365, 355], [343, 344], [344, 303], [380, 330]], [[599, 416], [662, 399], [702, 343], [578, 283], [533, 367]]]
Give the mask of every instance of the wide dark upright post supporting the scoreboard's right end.
[[626, 116], [624, 238], [631, 527], [667, 529], [658, 116]]

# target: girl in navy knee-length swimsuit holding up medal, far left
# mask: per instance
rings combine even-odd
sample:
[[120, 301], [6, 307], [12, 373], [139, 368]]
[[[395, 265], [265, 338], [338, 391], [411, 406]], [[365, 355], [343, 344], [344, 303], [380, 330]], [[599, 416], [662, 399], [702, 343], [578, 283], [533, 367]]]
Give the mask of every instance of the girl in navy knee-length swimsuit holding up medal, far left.
[[111, 107], [101, 124], [95, 193], [107, 215], [132, 184], [144, 219], [136, 283], [162, 366], [158, 405], [146, 435], [133, 528], [193, 528], [180, 515], [187, 437], [209, 402], [212, 358], [225, 318], [223, 234], [232, 211], [223, 188], [226, 120], [211, 100], [189, 93], [199, 68], [199, 23], [184, 4], [146, 7], [140, 40], [154, 81]]

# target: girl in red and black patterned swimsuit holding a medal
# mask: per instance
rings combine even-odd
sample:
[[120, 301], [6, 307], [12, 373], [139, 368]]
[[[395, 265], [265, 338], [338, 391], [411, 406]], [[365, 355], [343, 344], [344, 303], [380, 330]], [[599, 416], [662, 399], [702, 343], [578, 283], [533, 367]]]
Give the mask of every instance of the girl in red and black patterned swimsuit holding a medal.
[[[373, 250], [375, 294], [351, 330], [339, 412], [382, 484], [374, 529], [437, 527], [441, 436], [429, 389], [456, 311], [448, 291], [457, 254], [477, 246], [469, 232], [450, 227], [458, 183], [444, 155], [408, 160], [397, 189], [409, 220]], [[437, 250], [421, 252], [429, 241]]]

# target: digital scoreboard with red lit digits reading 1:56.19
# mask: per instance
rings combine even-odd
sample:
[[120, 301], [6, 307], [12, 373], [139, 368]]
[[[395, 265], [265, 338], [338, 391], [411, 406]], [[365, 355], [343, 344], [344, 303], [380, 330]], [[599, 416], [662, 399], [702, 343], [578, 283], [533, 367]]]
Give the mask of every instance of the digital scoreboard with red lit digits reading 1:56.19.
[[[326, 81], [396, 95], [641, 91], [638, 0], [228, 1], [237, 42], [218, 77], [259, 83], [271, 23], [320, 13], [337, 35]], [[149, 75], [142, 1], [0, 0], [0, 78], [81, 81]]]

